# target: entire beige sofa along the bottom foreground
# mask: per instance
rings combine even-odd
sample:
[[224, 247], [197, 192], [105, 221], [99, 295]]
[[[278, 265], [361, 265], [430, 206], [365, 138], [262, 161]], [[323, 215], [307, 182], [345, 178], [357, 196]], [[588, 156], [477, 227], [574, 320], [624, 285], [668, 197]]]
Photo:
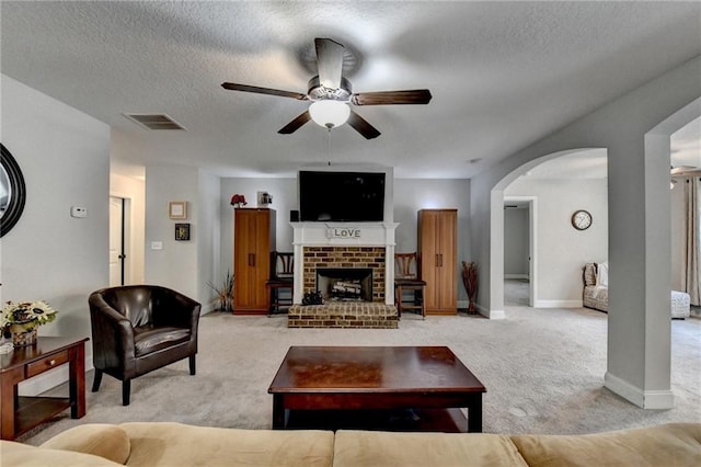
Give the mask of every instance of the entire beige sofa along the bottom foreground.
[[586, 435], [238, 430], [170, 422], [83, 424], [39, 447], [2, 441], [0, 465], [700, 466], [701, 423]]

